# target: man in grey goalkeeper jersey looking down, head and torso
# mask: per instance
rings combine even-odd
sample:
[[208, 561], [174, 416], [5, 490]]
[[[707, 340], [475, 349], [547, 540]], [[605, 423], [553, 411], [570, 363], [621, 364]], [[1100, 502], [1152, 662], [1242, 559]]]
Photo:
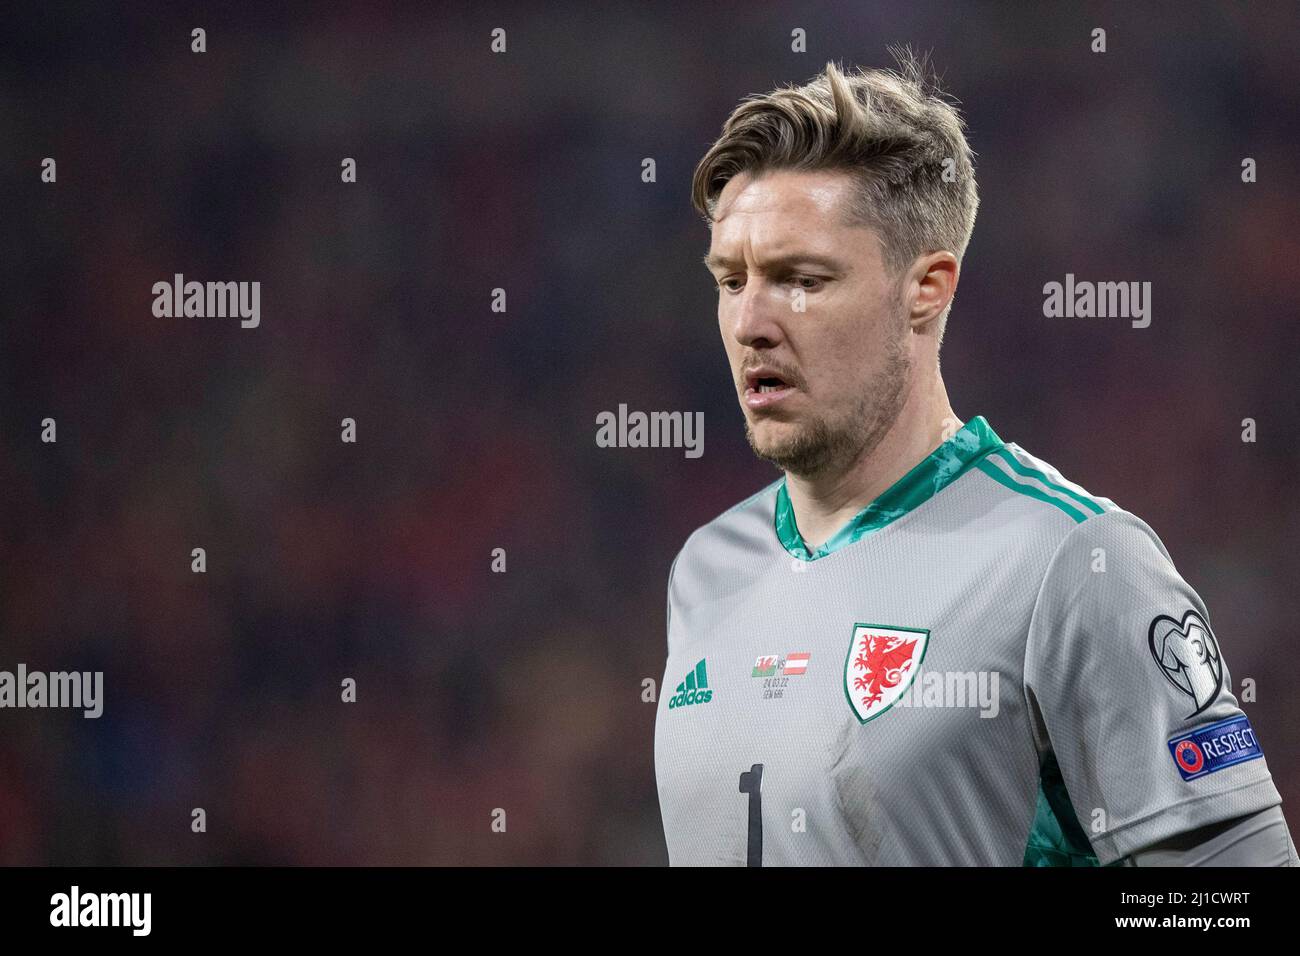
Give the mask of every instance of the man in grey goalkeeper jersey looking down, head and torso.
[[750, 98], [696, 172], [746, 434], [784, 476], [670, 571], [670, 861], [1297, 865], [1156, 533], [949, 405], [971, 157], [905, 56]]

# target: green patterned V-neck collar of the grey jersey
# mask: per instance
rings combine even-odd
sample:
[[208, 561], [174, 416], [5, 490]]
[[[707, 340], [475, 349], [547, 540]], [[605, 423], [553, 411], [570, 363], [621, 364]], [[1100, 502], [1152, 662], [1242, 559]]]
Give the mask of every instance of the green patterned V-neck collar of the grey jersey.
[[824, 558], [874, 531], [880, 531], [922, 502], [930, 501], [984, 455], [1002, 445], [993, 427], [983, 415], [976, 415], [815, 551], [810, 551], [800, 536], [798, 524], [794, 522], [794, 507], [790, 505], [789, 492], [785, 490], [785, 479], [781, 479], [781, 486], [776, 489], [776, 537], [786, 551], [801, 561]]

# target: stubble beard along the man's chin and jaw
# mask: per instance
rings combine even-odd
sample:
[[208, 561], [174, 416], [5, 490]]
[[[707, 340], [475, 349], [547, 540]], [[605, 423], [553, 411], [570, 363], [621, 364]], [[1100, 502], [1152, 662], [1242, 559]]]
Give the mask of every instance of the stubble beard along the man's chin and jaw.
[[904, 326], [889, 339], [884, 368], [835, 420], [814, 414], [794, 434], [759, 445], [746, 418], [745, 438], [754, 454], [802, 479], [841, 473], [870, 455], [898, 420], [907, 401], [911, 360], [904, 343], [906, 334]]

